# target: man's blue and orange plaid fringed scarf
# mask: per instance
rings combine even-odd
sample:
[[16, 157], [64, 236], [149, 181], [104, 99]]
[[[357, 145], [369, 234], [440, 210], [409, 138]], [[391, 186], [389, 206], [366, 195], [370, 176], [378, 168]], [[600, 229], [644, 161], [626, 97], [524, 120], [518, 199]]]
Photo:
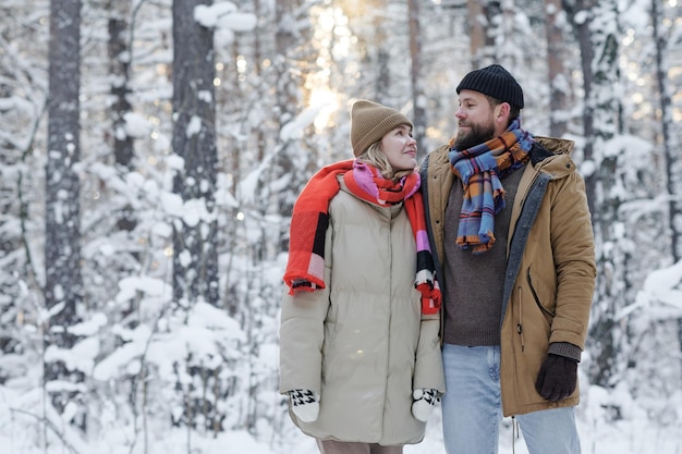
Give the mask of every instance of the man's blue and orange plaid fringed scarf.
[[528, 160], [533, 136], [515, 119], [500, 136], [459, 151], [450, 140], [450, 164], [462, 180], [464, 200], [460, 213], [456, 245], [483, 254], [495, 244], [495, 214], [504, 208], [500, 180]]

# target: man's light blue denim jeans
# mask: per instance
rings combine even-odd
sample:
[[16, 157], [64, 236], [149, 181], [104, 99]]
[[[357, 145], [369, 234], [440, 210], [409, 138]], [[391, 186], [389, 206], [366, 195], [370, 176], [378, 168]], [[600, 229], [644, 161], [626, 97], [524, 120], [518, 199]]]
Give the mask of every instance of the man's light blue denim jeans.
[[[442, 431], [448, 454], [497, 454], [502, 403], [500, 347], [444, 344]], [[516, 416], [529, 454], [580, 454], [573, 407]]]

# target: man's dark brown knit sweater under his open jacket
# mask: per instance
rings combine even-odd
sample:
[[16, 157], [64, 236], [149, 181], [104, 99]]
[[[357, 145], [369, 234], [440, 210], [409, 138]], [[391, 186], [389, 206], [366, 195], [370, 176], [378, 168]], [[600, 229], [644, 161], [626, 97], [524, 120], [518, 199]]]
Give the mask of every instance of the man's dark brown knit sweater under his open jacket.
[[444, 332], [443, 342], [480, 346], [500, 344], [502, 293], [507, 271], [507, 235], [511, 207], [525, 165], [502, 179], [506, 208], [495, 217], [496, 242], [490, 250], [473, 255], [455, 244], [462, 182], [455, 176], [444, 219]]

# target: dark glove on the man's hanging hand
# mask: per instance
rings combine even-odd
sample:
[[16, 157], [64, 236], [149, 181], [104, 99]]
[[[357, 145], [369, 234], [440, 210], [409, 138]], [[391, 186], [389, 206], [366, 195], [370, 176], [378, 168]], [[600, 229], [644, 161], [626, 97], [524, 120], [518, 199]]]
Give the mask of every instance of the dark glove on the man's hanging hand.
[[565, 356], [547, 355], [537, 375], [535, 389], [549, 402], [567, 398], [577, 384], [577, 361]]

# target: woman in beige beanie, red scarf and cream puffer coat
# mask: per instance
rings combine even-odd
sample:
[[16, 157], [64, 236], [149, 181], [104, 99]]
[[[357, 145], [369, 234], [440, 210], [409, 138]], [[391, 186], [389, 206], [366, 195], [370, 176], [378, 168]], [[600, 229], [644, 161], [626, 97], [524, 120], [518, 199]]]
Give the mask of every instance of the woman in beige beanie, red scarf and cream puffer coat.
[[351, 145], [294, 205], [280, 392], [322, 454], [399, 454], [444, 392], [440, 291], [412, 123], [360, 100]]

